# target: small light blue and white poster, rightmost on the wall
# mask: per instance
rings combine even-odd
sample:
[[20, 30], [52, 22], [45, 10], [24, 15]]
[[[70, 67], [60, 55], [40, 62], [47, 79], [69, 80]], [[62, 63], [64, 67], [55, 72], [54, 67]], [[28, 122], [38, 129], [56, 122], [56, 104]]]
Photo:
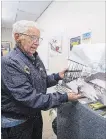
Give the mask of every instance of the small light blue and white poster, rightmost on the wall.
[[87, 32], [82, 34], [82, 44], [89, 44], [91, 43], [91, 32]]

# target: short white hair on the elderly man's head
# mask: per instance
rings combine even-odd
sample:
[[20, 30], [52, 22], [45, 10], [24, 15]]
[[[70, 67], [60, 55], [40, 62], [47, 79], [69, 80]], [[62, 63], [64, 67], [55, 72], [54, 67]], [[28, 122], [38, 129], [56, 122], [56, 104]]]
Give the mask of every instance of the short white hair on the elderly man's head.
[[12, 37], [14, 38], [15, 33], [24, 33], [26, 32], [30, 27], [35, 27], [37, 29], [38, 25], [34, 21], [28, 21], [28, 20], [20, 20], [13, 24], [13, 30], [12, 30]]

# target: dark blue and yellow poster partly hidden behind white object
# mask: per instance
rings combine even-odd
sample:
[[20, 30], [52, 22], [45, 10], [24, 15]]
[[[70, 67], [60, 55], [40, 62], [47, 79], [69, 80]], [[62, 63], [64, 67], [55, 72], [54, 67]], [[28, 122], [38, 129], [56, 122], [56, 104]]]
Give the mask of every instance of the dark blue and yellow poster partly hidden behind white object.
[[81, 44], [81, 36], [77, 36], [70, 39], [70, 51], [72, 50], [74, 45]]

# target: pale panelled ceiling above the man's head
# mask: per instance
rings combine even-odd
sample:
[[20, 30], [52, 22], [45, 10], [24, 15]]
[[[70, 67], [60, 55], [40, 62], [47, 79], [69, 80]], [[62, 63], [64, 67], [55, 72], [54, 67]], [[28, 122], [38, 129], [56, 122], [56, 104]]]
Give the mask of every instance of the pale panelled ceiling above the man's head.
[[52, 1], [2, 1], [2, 27], [12, 28], [18, 20], [37, 21]]

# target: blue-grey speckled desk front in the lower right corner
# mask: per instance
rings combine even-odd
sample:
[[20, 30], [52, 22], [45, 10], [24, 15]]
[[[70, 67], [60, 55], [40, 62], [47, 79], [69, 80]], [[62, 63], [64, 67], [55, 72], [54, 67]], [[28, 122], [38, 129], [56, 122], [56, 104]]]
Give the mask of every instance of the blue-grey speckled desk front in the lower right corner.
[[106, 139], [106, 118], [80, 102], [68, 102], [57, 110], [58, 139]]

